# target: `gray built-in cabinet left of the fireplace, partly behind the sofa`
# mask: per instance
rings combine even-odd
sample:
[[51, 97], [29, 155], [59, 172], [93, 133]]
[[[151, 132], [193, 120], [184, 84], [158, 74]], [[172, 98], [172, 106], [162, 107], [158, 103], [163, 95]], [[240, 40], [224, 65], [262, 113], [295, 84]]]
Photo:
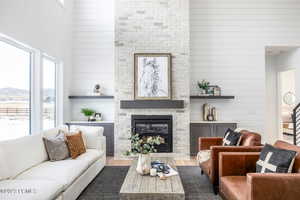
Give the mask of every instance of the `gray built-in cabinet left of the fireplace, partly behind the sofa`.
[[114, 123], [87, 123], [87, 122], [68, 122], [67, 126], [102, 126], [103, 136], [106, 137], [106, 156], [114, 156]]

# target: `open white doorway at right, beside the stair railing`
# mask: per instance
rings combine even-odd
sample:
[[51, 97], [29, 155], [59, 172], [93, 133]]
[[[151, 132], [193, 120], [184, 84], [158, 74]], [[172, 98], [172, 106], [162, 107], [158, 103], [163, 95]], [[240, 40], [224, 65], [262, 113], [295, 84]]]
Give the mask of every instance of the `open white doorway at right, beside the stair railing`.
[[299, 47], [266, 47], [266, 120], [267, 142], [293, 143], [292, 111], [297, 104]]

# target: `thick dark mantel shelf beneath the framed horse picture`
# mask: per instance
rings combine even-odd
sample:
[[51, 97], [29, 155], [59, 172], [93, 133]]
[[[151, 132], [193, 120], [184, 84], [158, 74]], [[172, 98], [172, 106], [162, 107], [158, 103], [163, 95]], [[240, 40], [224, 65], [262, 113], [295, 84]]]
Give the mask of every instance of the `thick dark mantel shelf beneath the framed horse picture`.
[[181, 109], [183, 100], [127, 100], [120, 102], [121, 109]]

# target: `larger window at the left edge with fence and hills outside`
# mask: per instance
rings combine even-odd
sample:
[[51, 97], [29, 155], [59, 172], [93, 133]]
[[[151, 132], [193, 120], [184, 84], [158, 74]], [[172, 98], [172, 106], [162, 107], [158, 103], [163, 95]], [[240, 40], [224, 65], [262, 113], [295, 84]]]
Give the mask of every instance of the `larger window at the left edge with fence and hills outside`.
[[30, 134], [32, 53], [0, 40], [0, 140]]

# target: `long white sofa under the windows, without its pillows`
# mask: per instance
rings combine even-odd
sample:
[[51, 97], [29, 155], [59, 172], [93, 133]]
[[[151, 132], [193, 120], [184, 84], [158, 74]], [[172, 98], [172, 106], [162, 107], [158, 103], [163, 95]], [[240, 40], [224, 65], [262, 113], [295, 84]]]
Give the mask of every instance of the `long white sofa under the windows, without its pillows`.
[[0, 199], [76, 199], [106, 162], [103, 128], [78, 128], [85, 137], [87, 152], [74, 160], [48, 161], [42, 138], [57, 134], [58, 128], [0, 142]]

